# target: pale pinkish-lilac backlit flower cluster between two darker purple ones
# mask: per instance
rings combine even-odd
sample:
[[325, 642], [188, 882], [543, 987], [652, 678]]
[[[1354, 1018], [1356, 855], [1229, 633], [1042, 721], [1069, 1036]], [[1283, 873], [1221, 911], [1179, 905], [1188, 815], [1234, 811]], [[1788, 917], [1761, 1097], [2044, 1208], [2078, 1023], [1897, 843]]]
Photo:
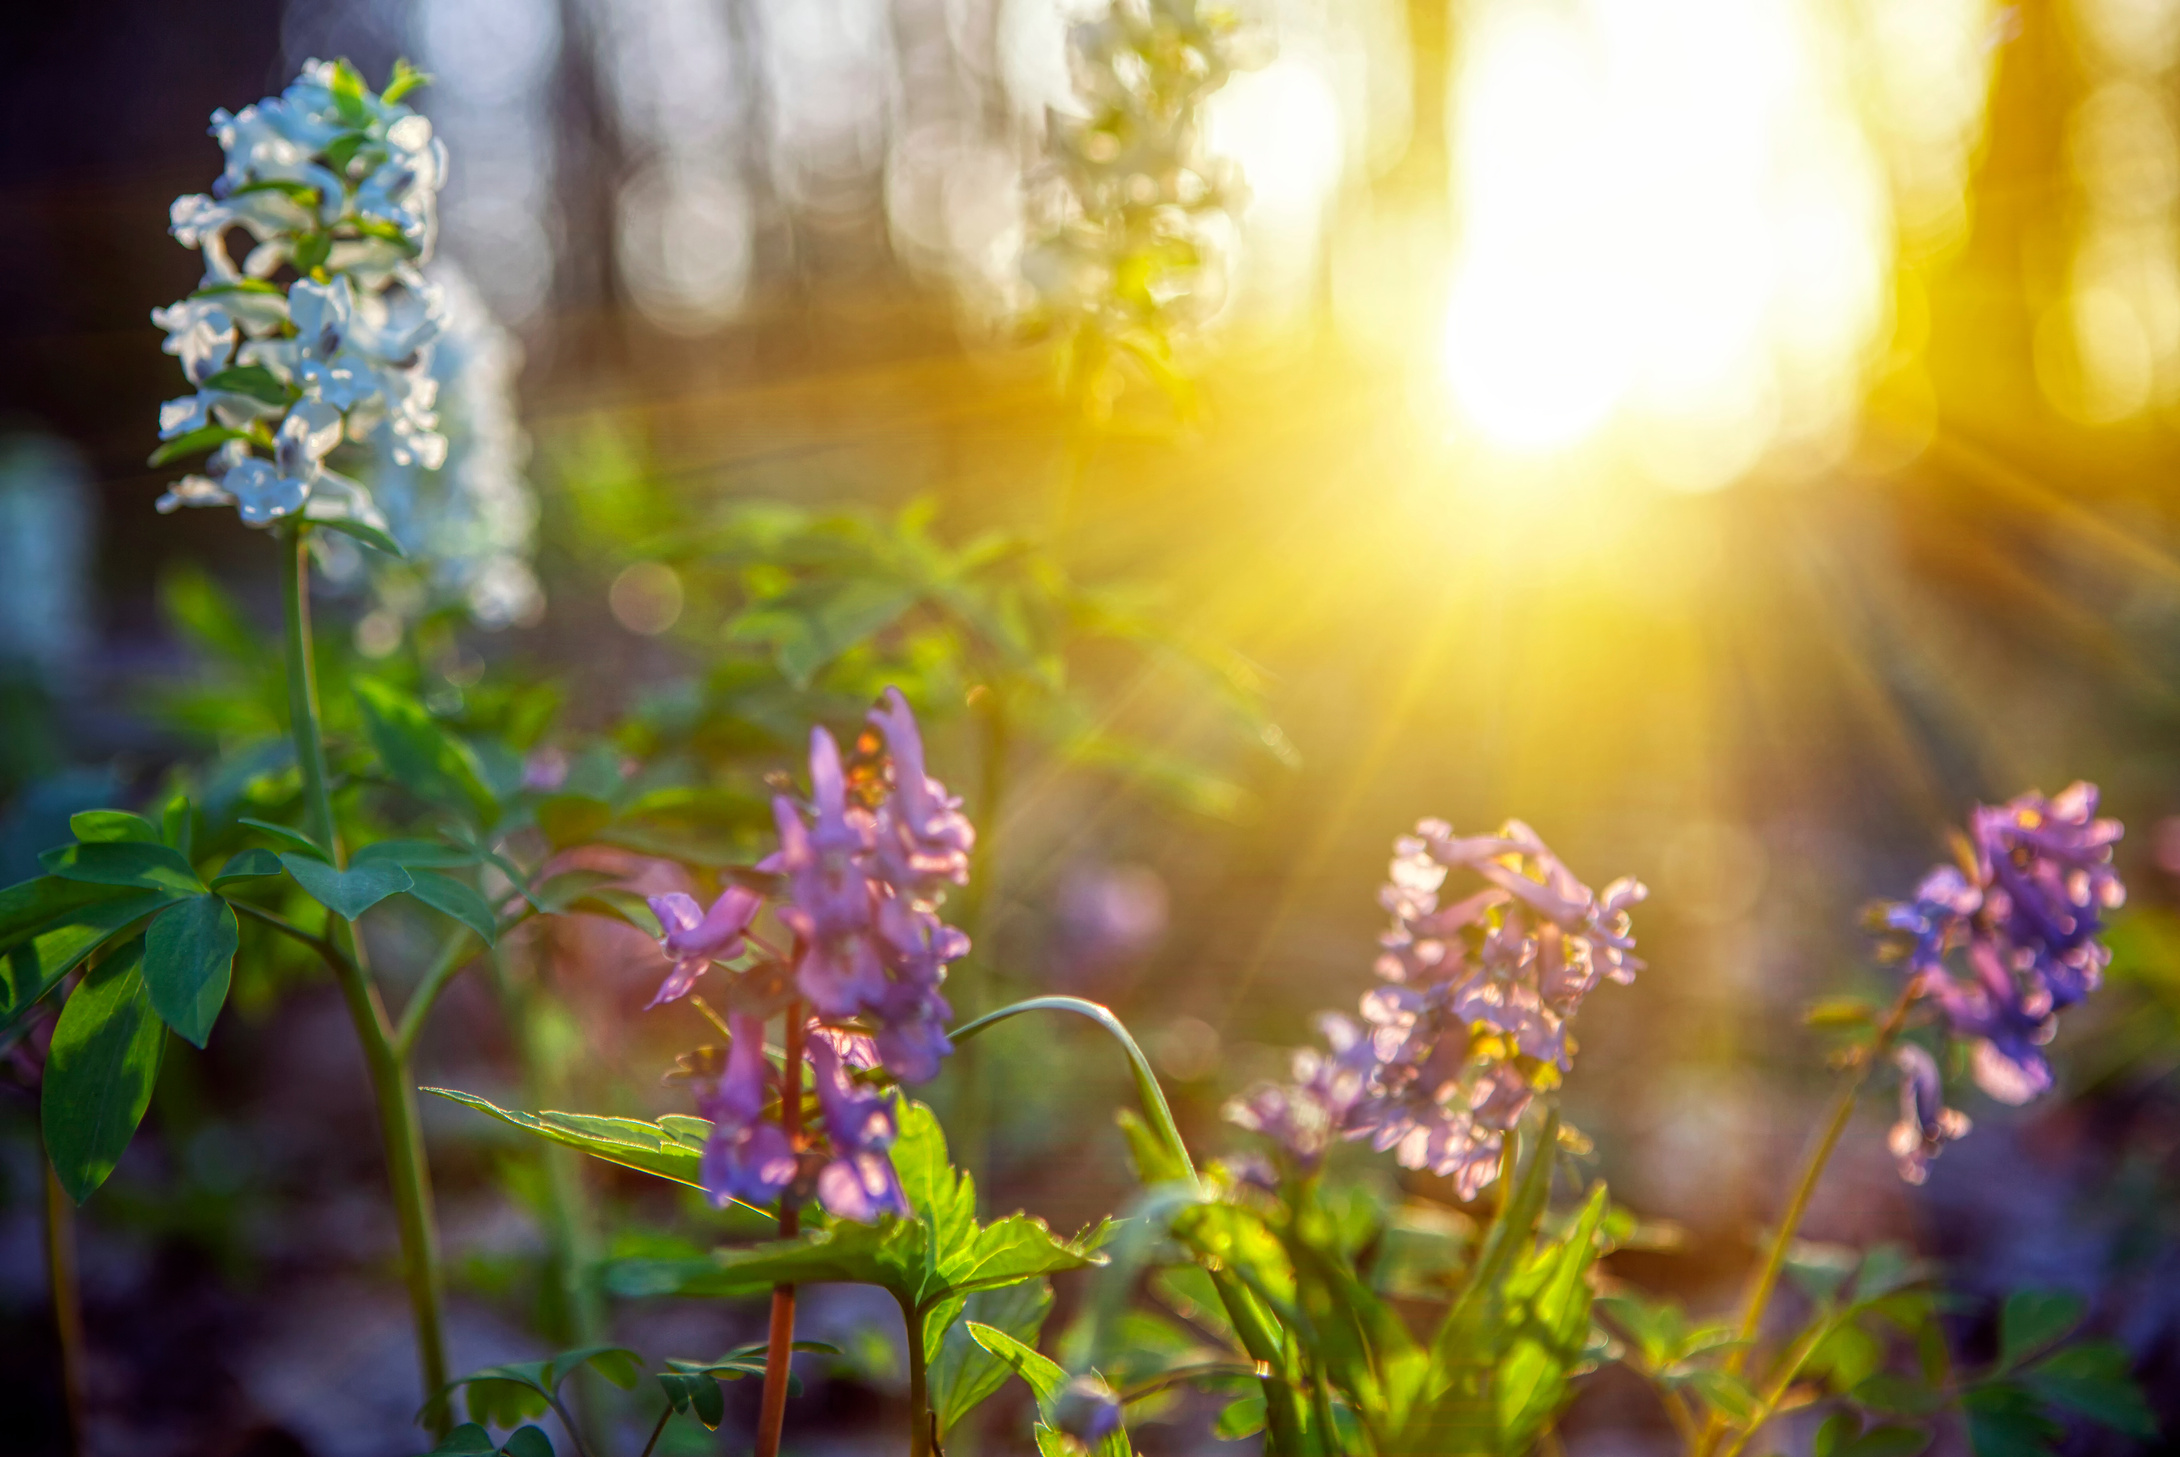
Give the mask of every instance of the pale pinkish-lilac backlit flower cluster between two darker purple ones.
[[[1448, 901], [1450, 870], [1482, 886]], [[1467, 838], [1424, 820], [1395, 842], [1378, 896], [1393, 914], [1386, 986], [1362, 997], [1360, 1023], [1328, 1014], [1330, 1051], [1297, 1053], [1291, 1084], [1251, 1088], [1227, 1117], [1304, 1167], [1332, 1136], [1369, 1139], [1476, 1197], [1528, 1104], [1572, 1067], [1583, 999], [1642, 968], [1628, 907], [1644, 894], [1633, 879], [1589, 890], [1519, 820]]]

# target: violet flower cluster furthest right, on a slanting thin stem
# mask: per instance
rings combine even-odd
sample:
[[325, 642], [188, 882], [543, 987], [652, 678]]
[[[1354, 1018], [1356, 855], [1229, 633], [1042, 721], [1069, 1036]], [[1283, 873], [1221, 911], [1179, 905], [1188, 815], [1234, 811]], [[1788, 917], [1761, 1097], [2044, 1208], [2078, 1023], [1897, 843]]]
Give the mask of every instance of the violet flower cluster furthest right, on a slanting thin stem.
[[[1879, 910], [1914, 977], [1914, 995], [1969, 1043], [1977, 1086], [2003, 1104], [2049, 1091], [2043, 1047], [2058, 1014], [2104, 979], [2104, 912], [2126, 899], [2112, 868], [2119, 820], [2097, 818], [2097, 785], [1977, 805], [1960, 866], [1936, 866], [1912, 901]], [[1923, 1058], [1929, 1060], [1927, 1056]], [[1901, 1176], [1923, 1182], [1929, 1156], [1958, 1132], [1938, 1108], [1936, 1064], [1903, 1064], [1903, 1119], [1892, 1130]], [[1925, 1108], [1927, 1104], [1927, 1108]], [[1942, 1110], [1940, 1110], [1942, 1112]], [[1925, 1117], [1927, 1115], [1927, 1117]], [[1931, 1139], [1938, 1128], [1942, 1136]], [[1908, 1149], [1908, 1152], [1901, 1152]]]

